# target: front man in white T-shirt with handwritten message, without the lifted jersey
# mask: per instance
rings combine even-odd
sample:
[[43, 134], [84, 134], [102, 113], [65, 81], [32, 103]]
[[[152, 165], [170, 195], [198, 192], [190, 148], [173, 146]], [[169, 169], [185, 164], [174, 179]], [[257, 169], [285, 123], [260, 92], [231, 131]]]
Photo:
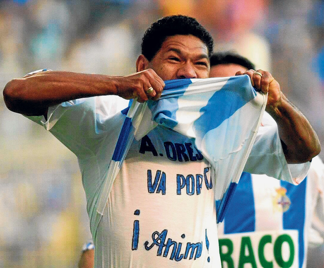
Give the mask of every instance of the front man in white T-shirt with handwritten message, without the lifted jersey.
[[[180, 161], [162, 153], [166, 150], [165, 142], [182, 148], [187, 144], [188, 150], [194, 150], [190, 147], [193, 139], [162, 126], [142, 140], [133, 141], [100, 222], [98, 226], [92, 225], [100, 186], [112, 157], [111, 148], [121, 128], [123, 115], [119, 111], [128, 106], [127, 99], [158, 99], [164, 80], [208, 78], [212, 50], [212, 37], [194, 18], [169, 16], [146, 30], [134, 74], [112, 77], [44, 69], [6, 84], [6, 106], [50, 130], [78, 158], [95, 237], [95, 267], [221, 266], [214, 189], [202, 189], [196, 195], [148, 191], [151, 173], [161, 177], [163, 172], [167, 178], [175, 178], [177, 174], [208, 173], [210, 167], [204, 157]], [[269, 72], [249, 70], [238, 74], [247, 74], [252, 85], [268, 92], [266, 110], [278, 125], [278, 131], [259, 133], [247, 169], [284, 172], [286, 179], [292, 181], [287, 163], [308, 166], [307, 162], [320, 151], [316, 133], [282, 94], [279, 83]], [[274, 162], [279, 166], [273, 168]], [[167, 183], [168, 189], [176, 189], [175, 180], [168, 179]], [[139, 235], [141, 242], [134, 243]], [[162, 239], [166, 245], [161, 244]], [[201, 241], [205, 241], [206, 247]]]

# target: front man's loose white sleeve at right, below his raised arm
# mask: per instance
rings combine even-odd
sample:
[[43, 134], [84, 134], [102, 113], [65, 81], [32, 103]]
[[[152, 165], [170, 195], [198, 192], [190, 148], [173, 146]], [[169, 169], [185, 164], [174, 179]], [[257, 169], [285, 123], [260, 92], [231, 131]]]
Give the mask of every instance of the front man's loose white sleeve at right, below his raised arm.
[[265, 112], [243, 171], [252, 174], [266, 174], [269, 177], [299, 184], [306, 177], [309, 167], [310, 162], [287, 164], [277, 124]]

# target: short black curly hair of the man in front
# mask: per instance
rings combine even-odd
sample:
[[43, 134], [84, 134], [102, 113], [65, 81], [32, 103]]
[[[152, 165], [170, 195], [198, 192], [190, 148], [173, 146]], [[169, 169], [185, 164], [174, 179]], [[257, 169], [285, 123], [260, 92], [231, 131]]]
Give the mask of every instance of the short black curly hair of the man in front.
[[183, 15], [160, 18], [145, 31], [142, 39], [142, 54], [151, 61], [169, 36], [182, 34], [198, 37], [208, 48], [208, 56], [213, 53], [213, 37], [195, 19]]

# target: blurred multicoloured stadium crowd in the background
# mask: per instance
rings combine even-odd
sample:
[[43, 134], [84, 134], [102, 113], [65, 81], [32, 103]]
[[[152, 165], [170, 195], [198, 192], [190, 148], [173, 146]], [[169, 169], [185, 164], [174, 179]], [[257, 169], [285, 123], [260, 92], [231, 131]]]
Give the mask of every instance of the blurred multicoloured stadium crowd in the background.
[[[2, 0], [0, 88], [41, 68], [133, 73], [146, 28], [173, 14], [270, 70], [324, 148], [324, 1]], [[0, 268], [75, 267], [90, 238], [75, 156], [2, 94], [0, 125]]]

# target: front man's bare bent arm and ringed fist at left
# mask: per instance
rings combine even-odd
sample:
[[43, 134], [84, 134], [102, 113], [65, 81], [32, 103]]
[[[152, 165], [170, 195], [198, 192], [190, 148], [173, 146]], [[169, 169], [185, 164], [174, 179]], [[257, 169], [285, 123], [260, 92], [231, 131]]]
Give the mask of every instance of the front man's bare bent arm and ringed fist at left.
[[[158, 99], [164, 85], [152, 69], [115, 77], [44, 71], [11, 80], [6, 84], [3, 95], [9, 110], [26, 116], [46, 117], [49, 106], [79, 98], [118, 95], [124, 99], [137, 97], [139, 102]], [[146, 93], [151, 86], [154, 91]]]

